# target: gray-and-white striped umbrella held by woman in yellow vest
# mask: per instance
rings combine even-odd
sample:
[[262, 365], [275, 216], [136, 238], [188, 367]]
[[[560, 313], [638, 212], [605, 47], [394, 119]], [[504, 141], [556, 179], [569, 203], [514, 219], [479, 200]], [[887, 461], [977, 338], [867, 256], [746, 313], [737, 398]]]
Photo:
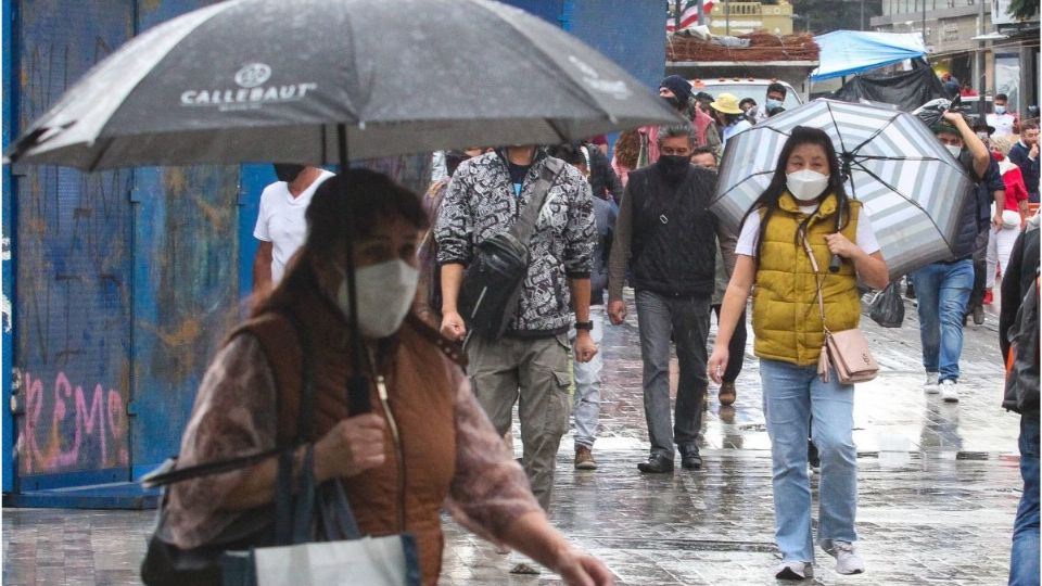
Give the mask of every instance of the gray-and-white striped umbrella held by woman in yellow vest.
[[952, 256], [974, 182], [918, 118], [866, 104], [815, 100], [729, 139], [712, 203], [725, 222], [737, 227], [766, 189], [797, 126], [831, 137], [847, 192], [872, 218], [891, 276]]

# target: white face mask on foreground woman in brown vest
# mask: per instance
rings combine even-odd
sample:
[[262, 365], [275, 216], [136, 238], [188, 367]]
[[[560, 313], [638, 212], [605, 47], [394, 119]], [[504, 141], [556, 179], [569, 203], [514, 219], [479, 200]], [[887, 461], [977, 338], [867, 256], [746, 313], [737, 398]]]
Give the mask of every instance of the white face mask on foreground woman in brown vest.
[[[358, 293], [358, 327], [369, 337], [386, 337], [398, 331], [412, 307], [420, 271], [402, 259], [355, 269]], [[351, 315], [347, 279], [340, 283], [336, 304]]]

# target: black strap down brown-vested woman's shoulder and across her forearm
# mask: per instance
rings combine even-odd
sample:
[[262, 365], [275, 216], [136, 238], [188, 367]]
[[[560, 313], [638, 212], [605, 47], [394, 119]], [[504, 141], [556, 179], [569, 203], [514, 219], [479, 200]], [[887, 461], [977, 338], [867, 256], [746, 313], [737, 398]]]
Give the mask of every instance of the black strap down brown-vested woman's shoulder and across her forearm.
[[[310, 430], [310, 415], [314, 388], [315, 388], [315, 360], [314, 355], [310, 348], [310, 336], [307, 334], [304, 326], [297, 320], [296, 316], [289, 314], [282, 314], [282, 316], [290, 322], [293, 329], [296, 332], [297, 340], [300, 341], [301, 352], [302, 352], [302, 384], [301, 384], [301, 407], [300, 416], [296, 426], [296, 436], [294, 440], [294, 445], [300, 445], [306, 438], [306, 432]], [[233, 334], [234, 335], [234, 334]], [[278, 384], [276, 384], [278, 393]], [[278, 412], [278, 397], [276, 397], [276, 412]], [[201, 464], [191, 466], [188, 468], [177, 468], [177, 459], [170, 458], [163, 463], [158, 469], [153, 472], [145, 474], [141, 477], [141, 486], [144, 488], [154, 488], [156, 486], [165, 486], [168, 484], [174, 484], [187, 480], [198, 479], [200, 476], [208, 476], [213, 474], [220, 474], [224, 472], [231, 472], [233, 470], [239, 470], [242, 468], [249, 468], [251, 466], [258, 464], [268, 458], [278, 455], [281, 451], [292, 449], [291, 446], [276, 446], [271, 449], [266, 449], [264, 451], [258, 451], [256, 454], [251, 454], [249, 456], [240, 456], [238, 458], [230, 458], [227, 460], [220, 460], [217, 462], [205, 462]]]

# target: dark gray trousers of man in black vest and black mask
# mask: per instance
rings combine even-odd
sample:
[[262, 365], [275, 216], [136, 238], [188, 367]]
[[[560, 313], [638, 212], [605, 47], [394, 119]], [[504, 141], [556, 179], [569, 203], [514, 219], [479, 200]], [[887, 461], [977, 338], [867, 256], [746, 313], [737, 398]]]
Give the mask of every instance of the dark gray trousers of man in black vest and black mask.
[[[668, 297], [636, 292], [640, 358], [644, 361], [644, 416], [648, 422], [651, 455], [673, 460], [673, 443], [695, 447], [702, 428], [706, 375], [706, 340], [709, 337], [709, 295]], [[681, 375], [670, 429], [670, 336], [676, 342]]]

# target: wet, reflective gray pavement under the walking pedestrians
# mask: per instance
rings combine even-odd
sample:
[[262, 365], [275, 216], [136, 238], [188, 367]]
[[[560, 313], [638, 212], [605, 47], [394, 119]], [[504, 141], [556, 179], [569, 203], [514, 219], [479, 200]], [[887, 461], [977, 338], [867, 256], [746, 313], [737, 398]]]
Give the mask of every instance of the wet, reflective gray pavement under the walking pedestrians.
[[[1000, 407], [997, 307], [996, 301], [984, 326], [966, 328], [955, 405], [919, 386], [924, 373], [911, 304], [902, 329], [863, 320], [884, 368], [878, 379], [857, 386], [855, 398], [857, 531], [867, 572], [837, 575], [831, 558], [819, 552], [813, 583], [1005, 584], [1021, 484], [1019, 419]], [[573, 470], [571, 436], [561, 444], [555, 524], [605, 560], [621, 584], [775, 584], [770, 444], [751, 335], [735, 406], [722, 408], [711, 385], [704, 468], [641, 475], [636, 463], [648, 444], [634, 314], [605, 335], [594, 449], [599, 469]], [[5, 509], [3, 583], [137, 584], [152, 517]], [[444, 584], [560, 584], [549, 572], [509, 575], [521, 558], [497, 553], [452, 521], [445, 526]]]

